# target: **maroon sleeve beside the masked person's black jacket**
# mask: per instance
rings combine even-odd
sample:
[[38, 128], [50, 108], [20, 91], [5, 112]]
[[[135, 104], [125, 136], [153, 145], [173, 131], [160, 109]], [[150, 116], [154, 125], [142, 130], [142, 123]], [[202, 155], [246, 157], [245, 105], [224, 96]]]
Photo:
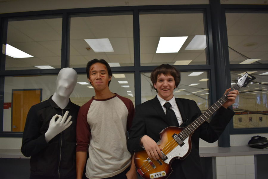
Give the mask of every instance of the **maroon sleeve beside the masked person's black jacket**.
[[88, 124], [87, 115], [92, 99], [84, 104], [78, 112], [76, 126], [76, 152], [87, 152], [90, 142], [90, 126]]

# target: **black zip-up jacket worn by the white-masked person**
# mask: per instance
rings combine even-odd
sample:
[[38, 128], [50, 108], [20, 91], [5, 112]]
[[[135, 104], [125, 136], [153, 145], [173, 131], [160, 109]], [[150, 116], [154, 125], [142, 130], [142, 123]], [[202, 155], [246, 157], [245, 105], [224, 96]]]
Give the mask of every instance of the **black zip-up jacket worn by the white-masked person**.
[[[76, 121], [79, 108], [70, 100], [67, 107], [61, 109], [52, 96], [30, 108], [21, 146], [23, 155], [31, 157], [30, 178], [76, 177]], [[49, 121], [55, 114], [63, 116], [67, 110], [68, 116], [72, 116], [71, 126], [46, 143], [45, 133]]]

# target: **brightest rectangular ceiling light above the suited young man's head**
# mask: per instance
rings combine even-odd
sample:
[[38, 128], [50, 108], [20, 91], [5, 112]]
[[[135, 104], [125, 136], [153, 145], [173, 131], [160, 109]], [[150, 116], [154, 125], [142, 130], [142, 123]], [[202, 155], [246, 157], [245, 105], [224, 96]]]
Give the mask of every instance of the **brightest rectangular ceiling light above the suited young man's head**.
[[156, 53], [177, 53], [187, 37], [160, 37]]

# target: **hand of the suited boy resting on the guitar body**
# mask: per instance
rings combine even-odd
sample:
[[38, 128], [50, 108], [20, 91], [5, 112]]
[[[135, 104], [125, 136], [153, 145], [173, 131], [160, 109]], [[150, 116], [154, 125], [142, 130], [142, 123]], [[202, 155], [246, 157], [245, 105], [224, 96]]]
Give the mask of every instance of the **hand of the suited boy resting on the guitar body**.
[[162, 157], [161, 148], [157, 145], [157, 143], [150, 138], [148, 135], [144, 135], [140, 141], [141, 145], [144, 146], [145, 151], [149, 158], [153, 158], [154, 160], [158, 160], [159, 156]]

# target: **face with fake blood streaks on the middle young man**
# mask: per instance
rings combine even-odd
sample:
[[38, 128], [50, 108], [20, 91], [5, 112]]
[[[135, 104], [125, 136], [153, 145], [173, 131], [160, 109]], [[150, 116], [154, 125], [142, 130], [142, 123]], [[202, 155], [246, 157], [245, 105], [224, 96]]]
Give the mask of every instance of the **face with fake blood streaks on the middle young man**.
[[108, 87], [111, 76], [108, 75], [107, 68], [104, 64], [95, 63], [89, 69], [88, 81], [94, 87], [95, 91], [101, 91]]

